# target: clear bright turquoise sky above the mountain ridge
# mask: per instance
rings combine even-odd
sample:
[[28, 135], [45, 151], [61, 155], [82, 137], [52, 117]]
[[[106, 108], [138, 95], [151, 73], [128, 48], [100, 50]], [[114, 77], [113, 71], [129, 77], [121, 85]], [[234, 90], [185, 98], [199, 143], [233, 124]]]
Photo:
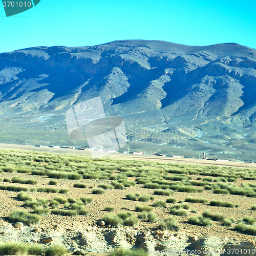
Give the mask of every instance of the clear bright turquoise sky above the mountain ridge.
[[236, 42], [256, 48], [255, 10], [256, 0], [41, 0], [6, 17], [1, 6], [0, 53], [122, 39], [197, 46]]

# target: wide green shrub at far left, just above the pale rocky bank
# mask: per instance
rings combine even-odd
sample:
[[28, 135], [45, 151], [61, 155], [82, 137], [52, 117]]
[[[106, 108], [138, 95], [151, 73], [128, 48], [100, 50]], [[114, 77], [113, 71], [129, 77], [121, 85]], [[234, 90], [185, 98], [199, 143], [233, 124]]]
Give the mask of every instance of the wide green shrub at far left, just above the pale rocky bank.
[[36, 214], [30, 214], [25, 210], [13, 210], [9, 214], [10, 221], [12, 222], [23, 222], [25, 225], [37, 224], [40, 221], [40, 216]]

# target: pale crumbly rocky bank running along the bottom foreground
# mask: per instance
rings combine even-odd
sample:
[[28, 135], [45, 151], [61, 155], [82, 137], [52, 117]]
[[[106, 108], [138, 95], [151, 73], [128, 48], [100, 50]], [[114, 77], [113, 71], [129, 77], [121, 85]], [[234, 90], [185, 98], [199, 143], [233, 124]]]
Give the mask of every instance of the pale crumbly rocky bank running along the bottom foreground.
[[[36, 230], [36, 231], [35, 231]], [[178, 252], [196, 255], [228, 256], [233, 251], [237, 255], [255, 255], [256, 245], [250, 241], [238, 241], [219, 237], [197, 237], [191, 231], [172, 232], [167, 230], [144, 230], [139, 227], [105, 228], [88, 226], [85, 229], [61, 227], [14, 228], [0, 227], [0, 240], [33, 242], [44, 244], [62, 243], [74, 254], [80, 252], [110, 252], [116, 248], [144, 248], [152, 255], [175, 255]], [[231, 250], [231, 252], [230, 252]], [[242, 252], [241, 252], [242, 251]], [[253, 253], [254, 252], [254, 253]]]

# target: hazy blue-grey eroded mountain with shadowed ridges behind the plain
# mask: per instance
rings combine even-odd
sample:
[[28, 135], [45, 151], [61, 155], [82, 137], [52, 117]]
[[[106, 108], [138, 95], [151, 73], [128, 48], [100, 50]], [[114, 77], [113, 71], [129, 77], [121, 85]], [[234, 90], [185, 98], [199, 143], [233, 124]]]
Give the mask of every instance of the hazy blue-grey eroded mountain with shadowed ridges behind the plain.
[[[156, 130], [160, 125], [166, 130], [178, 125], [202, 136], [188, 136], [182, 146], [165, 143], [166, 148], [195, 147], [198, 152], [191, 140], [197, 138], [204, 145], [212, 144], [208, 152], [219, 154], [223, 150], [213, 144], [220, 143], [224, 152], [240, 154], [232, 149], [238, 138], [230, 137], [227, 130], [244, 141], [243, 150], [254, 151], [255, 85], [256, 51], [238, 44], [198, 47], [121, 40], [93, 47], [35, 47], [2, 53], [0, 117], [3, 127], [13, 127], [8, 135], [2, 134], [2, 140], [71, 143], [65, 112], [73, 104], [100, 96], [106, 114], [122, 116], [126, 126]], [[224, 130], [216, 130], [216, 124]], [[23, 136], [17, 126], [26, 131]], [[32, 137], [29, 130], [34, 131]], [[54, 136], [47, 135], [49, 131]], [[131, 133], [132, 141], [135, 137]]]

